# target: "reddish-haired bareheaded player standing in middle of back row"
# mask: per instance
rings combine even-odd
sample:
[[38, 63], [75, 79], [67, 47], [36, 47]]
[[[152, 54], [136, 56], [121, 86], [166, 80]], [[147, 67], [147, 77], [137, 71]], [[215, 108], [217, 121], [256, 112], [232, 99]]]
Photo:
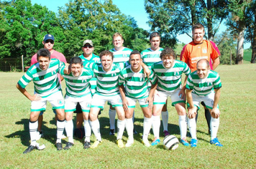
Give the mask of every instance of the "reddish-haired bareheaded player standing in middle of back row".
[[[113, 49], [110, 49], [110, 52], [113, 52], [114, 59], [113, 63], [125, 63], [129, 60], [129, 54], [131, 54], [132, 49], [124, 47], [124, 39], [122, 34], [116, 32], [113, 34], [112, 43], [114, 45]], [[115, 129], [115, 118], [116, 118], [116, 110], [112, 106], [109, 107], [109, 124], [110, 124], [110, 131], [109, 135], [114, 135]], [[137, 132], [134, 130], [134, 134]]]

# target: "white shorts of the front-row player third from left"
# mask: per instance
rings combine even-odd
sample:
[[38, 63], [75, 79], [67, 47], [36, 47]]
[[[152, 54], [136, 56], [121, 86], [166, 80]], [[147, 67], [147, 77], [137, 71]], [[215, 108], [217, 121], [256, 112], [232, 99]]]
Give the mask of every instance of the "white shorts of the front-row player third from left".
[[93, 95], [93, 100], [91, 101], [91, 107], [99, 107], [103, 109], [106, 101], [109, 101], [112, 107], [123, 107], [122, 98], [119, 94], [114, 96], [103, 96], [103, 95], [99, 95], [98, 93], [95, 93]]

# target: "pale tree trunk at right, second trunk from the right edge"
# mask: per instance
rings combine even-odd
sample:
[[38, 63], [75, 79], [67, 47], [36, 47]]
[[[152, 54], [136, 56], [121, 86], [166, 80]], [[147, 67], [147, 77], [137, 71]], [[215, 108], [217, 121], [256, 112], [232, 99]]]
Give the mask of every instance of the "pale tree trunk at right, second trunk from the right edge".
[[244, 21], [239, 21], [238, 37], [237, 37], [237, 59], [236, 64], [242, 64], [244, 57]]

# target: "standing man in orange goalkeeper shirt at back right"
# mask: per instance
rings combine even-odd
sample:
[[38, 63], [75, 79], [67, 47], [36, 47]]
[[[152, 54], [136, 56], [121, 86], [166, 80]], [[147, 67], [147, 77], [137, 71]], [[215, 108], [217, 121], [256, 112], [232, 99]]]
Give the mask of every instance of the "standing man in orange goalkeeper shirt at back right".
[[[188, 67], [191, 68], [191, 72], [196, 70], [196, 63], [199, 59], [207, 59], [211, 69], [216, 69], [219, 65], [219, 49], [214, 42], [204, 40], [204, 26], [202, 24], [195, 24], [192, 27], [192, 34], [193, 41], [183, 47], [180, 53], [180, 60], [188, 64]], [[185, 90], [185, 87], [183, 87], [183, 90]], [[205, 107], [204, 102], [201, 102], [201, 104]], [[211, 114], [206, 107], [204, 111], [210, 133]]]

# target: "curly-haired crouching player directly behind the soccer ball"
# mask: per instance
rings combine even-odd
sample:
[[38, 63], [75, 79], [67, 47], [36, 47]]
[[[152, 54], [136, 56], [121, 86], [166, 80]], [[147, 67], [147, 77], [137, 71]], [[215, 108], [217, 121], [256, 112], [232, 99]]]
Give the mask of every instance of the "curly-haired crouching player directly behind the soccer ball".
[[155, 76], [157, 77], [157, 90], [154, 95], [152, 115], [152, 130], [154, 132], [155, 140], [153, 140], [151, 145], [160, 143], [160, 114], [163, 105], [165, 105], [168, 96], [170, 96], [172, 105], [179, 115], [180, 142], [183, 145], [188, 146], [189, 144], [186, 141], [186, 84], [182, 87], [181, 74], [184, 73], [188, 76], [191, 70], [185, 62], [175, 60], [176, 54], [171, 48], [164, 49], [160, 54], [160, 58], [162, 60], [161, 62], [152, 65], [152, 71], [155, 72]]

